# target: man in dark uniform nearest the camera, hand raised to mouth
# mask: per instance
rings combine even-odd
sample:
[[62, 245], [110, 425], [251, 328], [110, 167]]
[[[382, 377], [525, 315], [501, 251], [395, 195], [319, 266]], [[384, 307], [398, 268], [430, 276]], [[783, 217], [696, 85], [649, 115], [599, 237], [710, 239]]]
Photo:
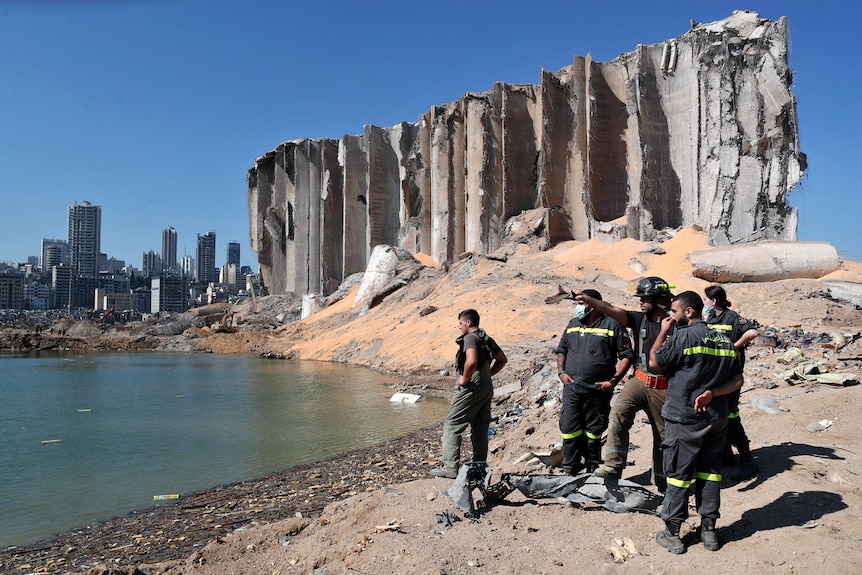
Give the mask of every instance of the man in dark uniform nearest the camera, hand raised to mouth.
[[[709, 551], [720, 547], [715, 522], [721, 504], [721, 467], [727, 442], [725, 396], [742, 386], [742, 368], [733, 342], [710, 329], [701, 316], [703, 300], [693, 291], [673, 299], [671, 315], [650, 349], [649, 365], [668, 376], [662, 416], [667, 490], [661, 518], [665, 528], [656, 541], [671, 553], [685, 553], [679, 530], [688, 518], [689, 488], [694, 483], [700, 539]], [[676, 325], [668, 338], [671, 327]]]

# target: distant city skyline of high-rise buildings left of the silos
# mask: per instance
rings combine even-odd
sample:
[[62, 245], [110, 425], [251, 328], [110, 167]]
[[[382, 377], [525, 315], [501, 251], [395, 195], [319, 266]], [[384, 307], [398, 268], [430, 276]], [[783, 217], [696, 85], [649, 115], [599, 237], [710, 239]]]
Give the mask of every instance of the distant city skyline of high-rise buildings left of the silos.
[[[28, 256], [23, 269], [0, 266], [2, 309], [173, 313], [195, 304], [229, 302], [241, 297], [247, 285], [251, 270], [240, 266], [238, 242], [228, 242], [226, 263], [216, 265], [214, 231], [197, 235], [195, 260], [183, 256], [180, 268], [177, 230], [169, 226], [162, 230], [161, 255], [144, 252], [138, 269], [101, 251], [102, 206], [71, 204], [67, 221], [67, 239], [44, 238], [41, 258]], [[193, 261], [194, 275], [189, 273]]]

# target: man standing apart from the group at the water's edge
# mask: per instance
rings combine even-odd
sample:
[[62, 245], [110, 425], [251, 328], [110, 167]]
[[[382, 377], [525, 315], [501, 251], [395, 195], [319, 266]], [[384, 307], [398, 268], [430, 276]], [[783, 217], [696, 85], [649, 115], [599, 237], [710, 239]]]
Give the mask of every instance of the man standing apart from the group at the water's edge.
[[467, 309], [458, 314], [461, 335], [455, 340], [458, 382], [452, 404], [443, 422], [443, 466], [431, 470], [434, 477], [455, 479], [461, 465], [461, 434], [470, 426], [473, 461], [488, 459], [488, 428], [491, 425], [491, 399], [498, 374], [508, 361], [497, 342], [479, 327], [479, 312]]

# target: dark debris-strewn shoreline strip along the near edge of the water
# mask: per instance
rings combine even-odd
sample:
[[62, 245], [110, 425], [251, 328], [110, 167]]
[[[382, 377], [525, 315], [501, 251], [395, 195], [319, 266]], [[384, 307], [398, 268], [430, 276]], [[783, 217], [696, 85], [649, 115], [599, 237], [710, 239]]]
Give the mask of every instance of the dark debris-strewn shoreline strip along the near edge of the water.
[[246, 525], [319, 516], [339, 499], [427, 477], [442, 424], [267, 477], [184, 496], [32, 544], [0, 551], [0, 571], [81, 571], [188, 557]]

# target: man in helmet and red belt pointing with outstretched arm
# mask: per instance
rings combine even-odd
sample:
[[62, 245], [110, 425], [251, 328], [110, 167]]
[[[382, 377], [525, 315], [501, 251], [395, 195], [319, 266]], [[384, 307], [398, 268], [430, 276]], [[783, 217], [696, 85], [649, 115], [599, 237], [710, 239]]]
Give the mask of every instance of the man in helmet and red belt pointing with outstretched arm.
[[605, 443], [604, 465], [595, 474], [605, 479], [619, 479], [626, 466], [629, 451], [629, 431], [638, 411], [646, 413], [652, 428], [653, 483], [664, 493], [665, 476], [662, 467], [661, 442], [664, 439], [664, 419], [661, 409], [667, 393], [667, 378], [648, 368], [649, 350], [661, 331], [661, 320], [667, 317], [673, 294], [660, 277], [643, 278], [635, 291], [640, 299], [640, 311], [627, 311], [607, 302], [595, 300], [584, 292], [575, 292], [575, 301], [593, 307], [610, 316], [634, 334], [634, 374], [626, 381], [611, 407]]

